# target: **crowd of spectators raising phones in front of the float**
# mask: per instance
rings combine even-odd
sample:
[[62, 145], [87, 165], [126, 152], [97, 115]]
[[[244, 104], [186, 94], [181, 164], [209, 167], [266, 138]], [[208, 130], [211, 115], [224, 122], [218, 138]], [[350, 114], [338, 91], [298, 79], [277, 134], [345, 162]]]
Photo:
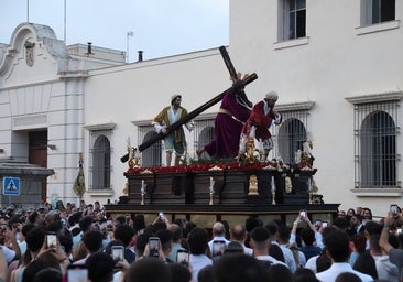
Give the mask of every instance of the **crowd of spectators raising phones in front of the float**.
[[163, 213], [108, 218], [96, 202], [0, 213], [0, 281], [403, 281], [403, 216], [369, 208], [292, 226], [249, 217], [211, 227]]

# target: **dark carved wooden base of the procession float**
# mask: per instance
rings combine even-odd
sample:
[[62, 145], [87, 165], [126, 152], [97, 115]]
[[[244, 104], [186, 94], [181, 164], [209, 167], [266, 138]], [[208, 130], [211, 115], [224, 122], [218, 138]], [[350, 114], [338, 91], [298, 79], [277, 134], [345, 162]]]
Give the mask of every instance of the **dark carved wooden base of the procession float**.
[[[284, 192], [284, 175], [277, 170], [127, 174], [128, 196], [121, 197], [119, 204], [105, 207], [110, 215], [143, 214], [150, 217], [150, 221], [154, 220], [159, 212], [164, 212], [171, 220], [186, 218], [206, 227], [222, 219], [231, 221], [238, 218], [243, 223], [250, 216], [292, 223], [301, 209], [306, 209], [313, 220], [319, 218], [331, 221], [337, 216], [339, 204], [309, 204], [305, 182], [314, 173], [306, 171], [293, 175], [294, 188], [290, 194]], [[258, 182], [258, 194], [253, 195], [249, 194], [251, 175], [255, 175]], [[214, 205], [210, 205], [211, 181]], [[144, 184], [145, 194], [142, 195]], [[275, 193], [272, 193], [273, 187]]]

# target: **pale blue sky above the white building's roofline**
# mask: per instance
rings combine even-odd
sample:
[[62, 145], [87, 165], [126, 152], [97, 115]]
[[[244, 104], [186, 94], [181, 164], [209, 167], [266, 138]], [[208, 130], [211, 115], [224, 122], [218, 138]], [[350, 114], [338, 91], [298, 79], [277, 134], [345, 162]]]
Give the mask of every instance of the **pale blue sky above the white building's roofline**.
[[[51, 26], [66, 43], [127, 51], [129, 61], [228, 45], [230, 0], [0, 0], [0, 43], [22, 22]], [[29, 3], [29, 9], [26, 8]]]

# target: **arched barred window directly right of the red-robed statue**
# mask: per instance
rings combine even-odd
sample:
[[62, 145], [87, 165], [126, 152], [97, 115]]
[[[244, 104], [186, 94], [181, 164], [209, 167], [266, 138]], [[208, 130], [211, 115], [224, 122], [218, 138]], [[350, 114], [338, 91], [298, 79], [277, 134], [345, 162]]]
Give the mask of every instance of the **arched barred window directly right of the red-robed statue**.
[[296, 152], [303, 150], [303, 143], [308, 140], [307, 118], [313, 106], [313, 102], [301, 102], [275, 107], [283, 116], [283, 122], [271, 129], [273, 139], [277, 141], [274, 147], [275, 158], [281, 156], [285, 163], [295, 162]]

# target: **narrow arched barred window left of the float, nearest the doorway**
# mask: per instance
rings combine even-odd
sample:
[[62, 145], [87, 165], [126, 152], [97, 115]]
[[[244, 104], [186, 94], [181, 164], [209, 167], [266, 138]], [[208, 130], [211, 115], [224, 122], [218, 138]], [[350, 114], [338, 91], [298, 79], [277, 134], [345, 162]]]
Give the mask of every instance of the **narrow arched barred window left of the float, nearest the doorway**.
[[91, 150], [92, 161], [90, 166], [91, 189], [110, 188], [110, 142], [104, 134], [99, 134]]

